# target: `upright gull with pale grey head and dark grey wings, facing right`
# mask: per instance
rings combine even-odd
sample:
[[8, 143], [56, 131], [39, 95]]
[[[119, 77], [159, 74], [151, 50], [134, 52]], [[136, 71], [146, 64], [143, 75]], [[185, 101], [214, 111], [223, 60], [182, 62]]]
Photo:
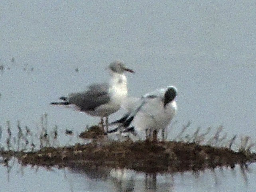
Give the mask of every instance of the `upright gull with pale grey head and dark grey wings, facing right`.
[[99, 116], [100, 124], [104, 127], [103, 118], [106, 118], [106, 131], [108, 131], [108, 116], [120, 109], [127, 96], [127, 79], [125, 71], [134, 73], [126, 68], [124, 63], [115, 61], [108, 66], [111, 78], [108, 83], [91, 84], [84, 92], [71, 93], [67, 97], [60, 97], [61, 102], [52, 102], [52, 105], [73, 105], [78, 110], [91, 116]]

